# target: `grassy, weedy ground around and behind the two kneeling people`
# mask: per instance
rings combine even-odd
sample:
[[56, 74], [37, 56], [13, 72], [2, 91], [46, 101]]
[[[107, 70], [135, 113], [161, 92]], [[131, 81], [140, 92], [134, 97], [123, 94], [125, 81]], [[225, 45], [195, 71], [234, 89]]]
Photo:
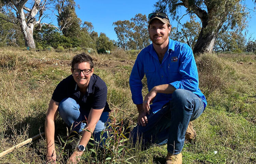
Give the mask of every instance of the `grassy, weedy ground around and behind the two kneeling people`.
[[[38, 134], [39, 129], [44, 131], [51, 94], [59, 81], [70, 74], [70, 60], [77, 53], [0, 49], [0, 152]], [[166, 145], [142, 151], [129, 146], [117, 131], [135, 125], [137, 120], [128, 84], [136, 54], [116, 51], [111, 55], [91, 55], [95, 73], [108, 86], [114, 122], [110, 132], [114, 135], [106, 146], [109, 150], [89, 146], [81, 163], [165, 162]], [[196, 144], [185, 143], [183, 163], [256, 163], [256, 56], [203, 54], [196, 60], [200, 88], [209, 105], [194, 121]], [[146, 94], [145, 79], [143, 84]], [[56, 121], [56, 131], [57, 156], [63, 163], [65, 154], [72, 151], [63, 141], [72, 138], [67, 139], [60, 118]], [[127, 136], [126, 131], [123, 134]], [[0, 163], [43, 163], [45, 151], [42, 138], [6, 155]]]

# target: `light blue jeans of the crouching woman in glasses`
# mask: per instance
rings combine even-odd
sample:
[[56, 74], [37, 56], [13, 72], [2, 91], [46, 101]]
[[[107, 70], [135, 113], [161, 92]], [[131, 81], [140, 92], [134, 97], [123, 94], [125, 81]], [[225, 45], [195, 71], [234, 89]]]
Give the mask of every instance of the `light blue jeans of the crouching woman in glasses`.
[[[59, 103], [58, 111], [62, 120], [65, 121], [69, 127], [73, 124], [72, 131], [79, 133], [86, 127], [89, 112], [80, 109], [79, 104], [73, 98], [64, 98]], [[93, 132], [95, 141], [100, 141], [101, 132], [106, 128], [108, 119], [109, 112], [102, 112], [100, 120], [96, 124]], [[103, 133], [102, 137], [106, 139], [106, 132]]]

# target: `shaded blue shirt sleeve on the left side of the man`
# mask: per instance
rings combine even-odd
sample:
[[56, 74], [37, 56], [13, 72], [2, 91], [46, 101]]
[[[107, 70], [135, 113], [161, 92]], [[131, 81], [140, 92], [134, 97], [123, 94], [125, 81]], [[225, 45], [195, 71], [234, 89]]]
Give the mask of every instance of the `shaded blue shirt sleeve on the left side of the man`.
[[131, 89], [131, 97], [134, 104], [142, 104], [143, 97], [142, 97], [142, 82], [141, 80], [144, 77], [143, 71], [143, 62], [140, 58], [141, 54], [138, 55], [134, 66], [131, 71], [129, 85]]

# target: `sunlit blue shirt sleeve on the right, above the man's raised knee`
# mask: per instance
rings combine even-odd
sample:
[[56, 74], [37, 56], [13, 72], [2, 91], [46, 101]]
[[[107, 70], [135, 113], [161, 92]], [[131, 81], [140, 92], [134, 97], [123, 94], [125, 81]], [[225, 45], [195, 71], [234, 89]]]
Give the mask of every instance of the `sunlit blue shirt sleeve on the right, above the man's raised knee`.
[[179, 81], [170, 83], [170, 85], [176, 89], [186, 89], [195, 92], [198, 90], [198, 72], [193, 51], [191, 48], [184, 48], [180, 55], [181, 64], [178, 71], [182, 78]]

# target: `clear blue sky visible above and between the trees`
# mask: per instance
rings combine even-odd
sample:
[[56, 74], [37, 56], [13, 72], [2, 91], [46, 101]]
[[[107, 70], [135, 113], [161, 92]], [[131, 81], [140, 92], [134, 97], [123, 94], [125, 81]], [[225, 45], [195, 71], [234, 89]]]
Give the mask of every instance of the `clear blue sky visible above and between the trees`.
[[[77, 16], [84, 21], [93, 23], [94, 31], [100, 34], [105, 33], [110, 39], [117, 40], [114, 31], [113, 22], [118, 20], [130, 20], [136, 14], [141, 13], [146, 16], [154, 11], [154, 4], [157, 0], [75, 0], [80, 9], [76, 9]], [[255, 6], [252, 0], [245, 0], [249, 8]], [[184, 8], [184, 7], [183, 7]], [[181, 10], [183, 12], [184, 10]], [[255, 12], [251, 12], [251, 18], [248, 18], [248, 34], [256, 39], [256, 21]], [[185, 23], [189, 19], [188, 16], [181, 20]], [[49, 21], [49, 20], [47, 20]], [[51, 21], [57, 25], [56, 16], [52, 16]], [[172, 26], [177, 27], [177, 22], [171, 22]], [[249, 35], [248, 35], [249, 36]]]

